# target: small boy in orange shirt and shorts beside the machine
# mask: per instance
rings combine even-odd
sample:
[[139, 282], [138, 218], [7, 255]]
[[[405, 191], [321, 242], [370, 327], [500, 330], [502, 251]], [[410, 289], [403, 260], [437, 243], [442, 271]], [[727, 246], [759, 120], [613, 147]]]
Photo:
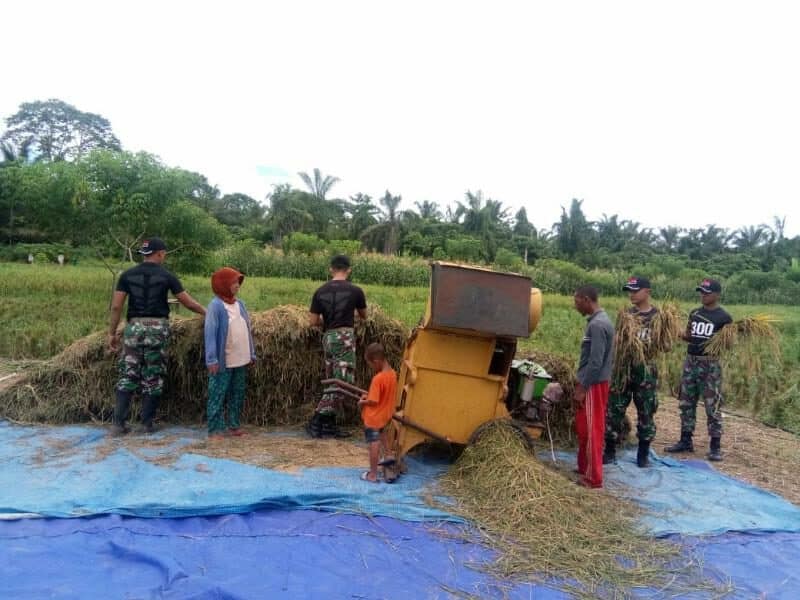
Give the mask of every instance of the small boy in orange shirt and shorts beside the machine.
[[394, 414], [397, 373], [386, 361], [386, 351], [380, 344], [367, 346], [364, 358], [375, 376], [369, 384], [369, 391], [358, 401], [364, 421], [364, 437], [369, 444], [369, 471], [364, 471], [361, 479], [378, 483], [378, 457], [381, 446], [384, 452], [388, 450], [384, 429]]

